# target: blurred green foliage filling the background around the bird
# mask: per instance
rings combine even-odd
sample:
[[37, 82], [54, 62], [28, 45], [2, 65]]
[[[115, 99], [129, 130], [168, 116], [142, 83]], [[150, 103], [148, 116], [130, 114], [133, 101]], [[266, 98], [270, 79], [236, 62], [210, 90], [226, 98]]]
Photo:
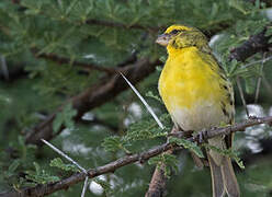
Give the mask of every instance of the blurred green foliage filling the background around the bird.
[[[251, 115], [272, 115], [272, 67], [257, 54], [246, 62], [229, 62], [229, 51], [271, 23], [271, 8], [261, 0], [18, 0], [0, 1], [0, 56], [5, 59], [10, 80], [3, 80], [5, 65], [0, 63], [0, 193], [54, 182], [77, 171], [64, 163], [48, 147], [25, 144], [24, 136], [46, 116], [56, 113], [54, 131], [65, 128], [52, 143], [68, 153], [86, 169], [103, 165], [125, 154], [140, 152], [166, 141], [172, 124], [158, 96], [157, 82], [162, 68], [137, 84], [166, 129], [159, 129], [132, 91], [87, 113], [82, 121], [73, 121], [77, 112], [67, 102], [105, 76], [72, 65], [75, 61], [113, 68], [133, 54], [137, 58], [166, 61], [162, 47], [155, 44], [158, 34], [173, 23], [199, 27], [211, 38], [211, 47], [231, 79], [236, 91], [237, 121], [246, 118], [236, 86], [241, 85]], [[271, 34], [271, 26], [268, 34]], [[54, 54], [69, 58], [69, 63], [35, 58]], [[265, 57], [271, 54], [267, 53]], [[250, 66], [248, 66], [251, 63]], [[248, 67], [245, 67], [248, 66]], [[23, 68], [23, 71], [20, 69]], [[12, 76], [12, 70], [21, 76]], [[257, 81], [262, 77], [258, 103]], [[59, 106], [64, 111], [59, 112]], [[102, 121], [95, 121], [100, 119]], [[83, 121], [84, 120], [84, 121]], [[257, 126], [236, 135], [235, 149], [254, 158], [262, 154], [260, 140], [270, 139], [271, 128]], [[186, 144], [196, 153], [195, 144]], [[236, 153], [235, 150], [235, 153]], [[271, 150], [270, 150], [271, 151]], [[271, 157], [271, 152], [269, 152]], [[247, 155], [246, 154], [246, 155]], [[269, 196], [272, 190], [271, 158], [263, 157], [240, 171], [238, 181], [242, 196]], [[194, 169], [185, 151], [177, 157], [162, 154], [149, 164], [132, 164], [90, 181], [100, 187], [88, 189], [88, 196], [144, 196], [155, 164], [167, 164], [168, 196], [211, 196], [208, 170]], [[162, 165], [161, 165], [162, 166]], [[72, 172], [71, 172], [72, 171]], [[79, 196], [82, 184], [50, 196]], [[100, 189], [100, 192], [98, 192]]]

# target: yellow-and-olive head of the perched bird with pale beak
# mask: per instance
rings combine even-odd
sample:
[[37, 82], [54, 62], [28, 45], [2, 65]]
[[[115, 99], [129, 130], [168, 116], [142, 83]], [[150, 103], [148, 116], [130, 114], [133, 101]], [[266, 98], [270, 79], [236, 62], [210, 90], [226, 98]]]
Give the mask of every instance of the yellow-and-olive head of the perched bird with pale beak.
[[181, 49], [195, 46], [200, 49], [207, 47], [206, 36], [194, 27], [183, 25], [171, 25], [166, 32], [158, 36], [156, 43], [168, 49]]

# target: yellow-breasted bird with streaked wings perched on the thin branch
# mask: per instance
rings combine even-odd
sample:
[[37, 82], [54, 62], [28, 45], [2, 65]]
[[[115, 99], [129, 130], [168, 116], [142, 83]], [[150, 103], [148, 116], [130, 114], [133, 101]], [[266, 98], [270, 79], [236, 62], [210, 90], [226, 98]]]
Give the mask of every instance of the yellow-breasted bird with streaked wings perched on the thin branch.
[[[167, 47], [168, 59], [159, 79], [159, 93], [177, 128], [201, 131], [234, 121], [234, 93], [205, 35], [194, 27], [172, 25], [156, 43]], [[231, 147], [233, 135], [208, 139], [218, 149]], [[212, 174], [213, 197], [240, 196], [230, 158], [205, 150]], [[201, 161], [201, 159], [199, 159]], [[207, 162], [206, 162], [207, 163]]]

